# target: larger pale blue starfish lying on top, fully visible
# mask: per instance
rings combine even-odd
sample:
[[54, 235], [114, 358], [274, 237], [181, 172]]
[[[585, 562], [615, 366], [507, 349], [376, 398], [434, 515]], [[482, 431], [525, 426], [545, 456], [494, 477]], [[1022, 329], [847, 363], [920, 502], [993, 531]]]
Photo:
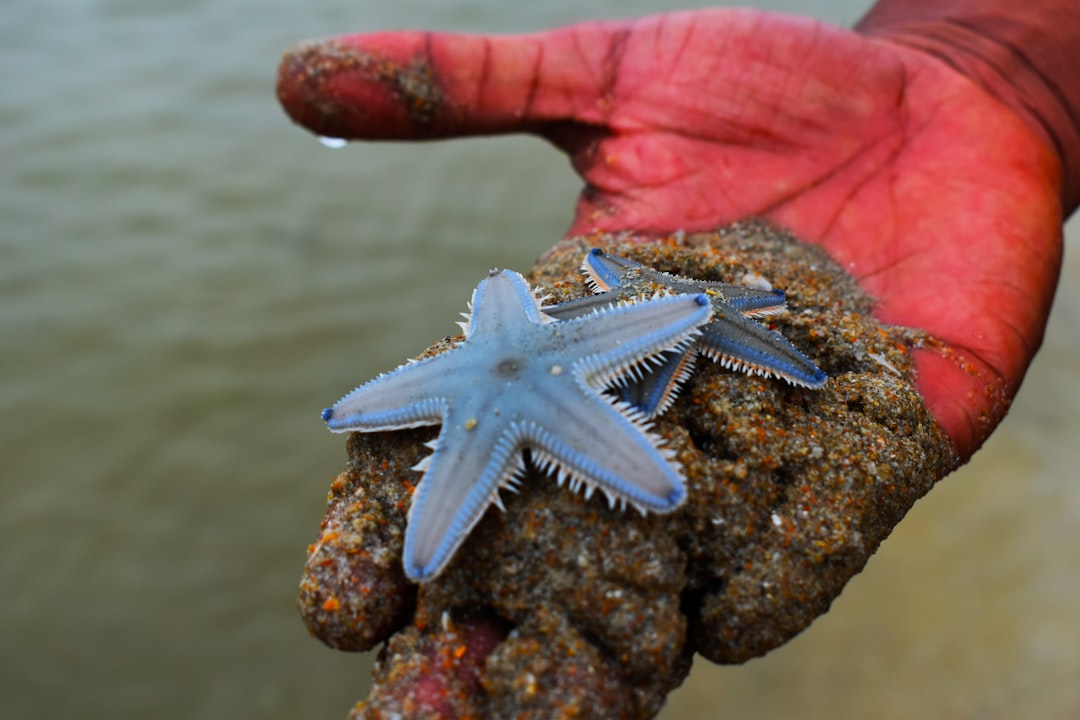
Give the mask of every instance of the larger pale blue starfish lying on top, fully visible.
[[405, 531], [405, 574], [434, 578], [499, 490], [514, 487], [522, 451], [572, 489], [669, 512], [685, 498], [680, 470], [640, 413], [603, 390], [708, 321], [704, 295], [609, 303], [555, 322], [525, 279], [503, 270], [476, 286], [464, 341], [410, 362], [323, 411], [334, 432], [442, 424]]

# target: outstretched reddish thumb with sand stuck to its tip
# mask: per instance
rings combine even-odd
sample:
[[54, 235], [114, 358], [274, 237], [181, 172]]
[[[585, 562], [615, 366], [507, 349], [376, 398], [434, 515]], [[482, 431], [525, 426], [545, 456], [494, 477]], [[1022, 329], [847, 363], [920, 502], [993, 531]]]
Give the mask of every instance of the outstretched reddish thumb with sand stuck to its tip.
[[297, 123], [348, 139], [419, 139], [603, 122], [624, 24], [522, 36], [353, 35], [285, 53], [278, 97]]

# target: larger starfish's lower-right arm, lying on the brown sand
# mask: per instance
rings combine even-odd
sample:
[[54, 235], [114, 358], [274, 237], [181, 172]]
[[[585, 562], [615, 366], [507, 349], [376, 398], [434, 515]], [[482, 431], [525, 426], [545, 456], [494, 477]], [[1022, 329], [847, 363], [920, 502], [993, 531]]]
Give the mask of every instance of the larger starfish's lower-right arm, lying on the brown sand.
[[550, 396], [543, 416], [523, 427], [534, 460], [548, 471], [557, 465], [561, 481], [585, 483], [603, 489], [612, 502], [658, 513], [674, 510], [686, 498], [671, 453], [645, 427], [644, 417], [584, 385]]

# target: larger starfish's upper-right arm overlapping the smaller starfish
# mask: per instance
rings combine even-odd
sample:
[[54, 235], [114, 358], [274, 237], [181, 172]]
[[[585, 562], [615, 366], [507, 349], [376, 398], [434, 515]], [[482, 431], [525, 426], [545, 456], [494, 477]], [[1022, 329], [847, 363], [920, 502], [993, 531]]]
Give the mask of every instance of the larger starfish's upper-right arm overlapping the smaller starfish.
[[[711, 315], [712, 305], [704, 295], [669, 295], [602, 308], [554, 327], [576, 376], [599, 388], [650, 356], [683, 347]], [[597, 348], [605, 350], [597, 352]]]

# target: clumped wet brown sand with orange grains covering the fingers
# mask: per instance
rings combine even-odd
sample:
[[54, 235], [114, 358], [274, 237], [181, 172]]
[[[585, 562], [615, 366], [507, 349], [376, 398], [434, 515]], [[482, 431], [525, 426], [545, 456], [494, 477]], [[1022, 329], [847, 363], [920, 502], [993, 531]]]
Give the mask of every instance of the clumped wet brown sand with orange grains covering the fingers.
[[383, 648], [355, 717], [651, 717], [694, 652], [741, 663], [825, 612], [955, 466], [913, 385], [909, 350], [926, 339], [875, 321], [820, 250], [754, 223], [653, 243], [594, 235], [559, 243], [531, 280], [558, 300], [588, 294], [578, 267], [592, 246], [783, 289], [789, 311], [769, 323], [828, 382], [805, 390], [699, 362], [657, 423], [687, 476], [678, 511], [610, 510], [530, 473], [419, 590], [401, 569], [408, 467], [437, 429], [351, 435], [300, 610], [347, 650], [414, 624]]

